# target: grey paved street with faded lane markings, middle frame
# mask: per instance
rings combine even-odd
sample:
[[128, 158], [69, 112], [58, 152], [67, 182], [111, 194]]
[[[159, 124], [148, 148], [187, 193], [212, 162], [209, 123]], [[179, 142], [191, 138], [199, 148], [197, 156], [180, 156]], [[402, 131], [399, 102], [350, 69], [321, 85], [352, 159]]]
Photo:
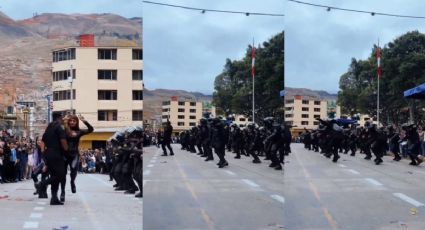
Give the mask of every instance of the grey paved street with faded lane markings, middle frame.
[[283, 229], [283, 171], [226, 154], [229, 167], [173, 145], [144, 153], [144, 229]]

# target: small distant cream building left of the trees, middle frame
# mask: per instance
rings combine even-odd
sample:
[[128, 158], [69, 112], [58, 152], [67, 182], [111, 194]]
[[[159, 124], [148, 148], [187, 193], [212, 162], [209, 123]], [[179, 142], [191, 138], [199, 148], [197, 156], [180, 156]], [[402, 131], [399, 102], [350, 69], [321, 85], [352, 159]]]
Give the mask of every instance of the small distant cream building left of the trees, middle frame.
[[202, 102], [199, 101], [171, 97], [171, 100], [162, 102], [162, 122], [168, 119], [174, 133], [196, 126], [202, 118], [202, 112]]

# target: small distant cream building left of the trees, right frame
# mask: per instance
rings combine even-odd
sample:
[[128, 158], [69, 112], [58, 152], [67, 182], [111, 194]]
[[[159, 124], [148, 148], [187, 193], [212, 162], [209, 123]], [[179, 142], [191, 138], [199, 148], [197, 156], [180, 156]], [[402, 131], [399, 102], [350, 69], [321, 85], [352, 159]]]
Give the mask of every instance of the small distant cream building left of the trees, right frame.
[[337, 118], [341, 109], [334, 101], [313, 96], [296, 95], [285, 99], [285, 123], [292, 125], [292, 132], [298, 135], [304, 129], [315, 129], [319, 125], [317, 118]]

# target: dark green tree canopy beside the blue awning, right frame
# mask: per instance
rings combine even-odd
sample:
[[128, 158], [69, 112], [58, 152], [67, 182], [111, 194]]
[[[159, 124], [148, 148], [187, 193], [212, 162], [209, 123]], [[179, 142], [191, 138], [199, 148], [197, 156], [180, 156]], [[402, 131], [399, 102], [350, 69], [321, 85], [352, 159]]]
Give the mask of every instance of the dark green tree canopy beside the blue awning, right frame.
[[[340, 77], [338, 104], [345, 114], [376, 115], [376, 49], [372, 47], [366, 60], [353, 58], [348, 71]], [[425, 34], [408, 32], [385, 45], [381, 50], [381, 66], [380, 122], [400, 124], [410, 116], [416, 122], [423, 120], [419, 108], [424, 102], [405, 99], [403, 92], [425, 82]]]

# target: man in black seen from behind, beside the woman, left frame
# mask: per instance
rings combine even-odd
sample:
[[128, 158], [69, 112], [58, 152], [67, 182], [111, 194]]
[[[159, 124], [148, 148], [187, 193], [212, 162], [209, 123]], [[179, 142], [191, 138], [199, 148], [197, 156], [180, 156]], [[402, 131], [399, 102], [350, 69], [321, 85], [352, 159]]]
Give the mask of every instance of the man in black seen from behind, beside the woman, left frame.
[[66, 175], [64, 156], [68, 151], [68, 143], [61, 113], [53, 113], [53, 122], [47, 126], [43, 134], [42, 145], [41, 149], [44, 152], [50, 177], [36, 184], [37, 191], [41, 192], [44, 187], [51, 184], [50, 205], [63, 205], [58, 199], [58, 189], [59, 182]]

